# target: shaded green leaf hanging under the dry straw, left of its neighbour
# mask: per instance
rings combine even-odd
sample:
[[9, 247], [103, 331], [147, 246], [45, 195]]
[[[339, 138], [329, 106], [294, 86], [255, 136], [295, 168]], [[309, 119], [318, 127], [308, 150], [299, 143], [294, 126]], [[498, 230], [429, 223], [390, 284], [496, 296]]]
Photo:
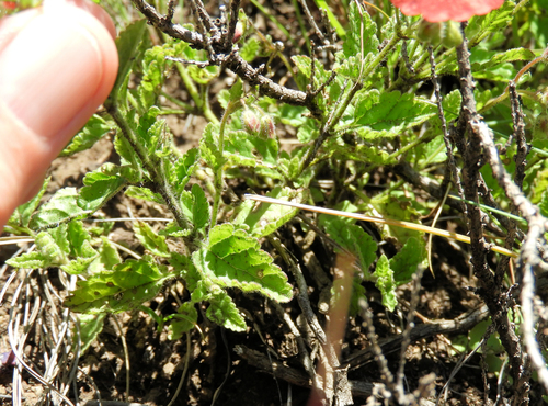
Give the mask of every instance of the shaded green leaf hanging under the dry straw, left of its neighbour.
[[[346, 207], [342, 208], [343, 211], [349, 211]], [[333, 240], [356, 256], [359, 267], [364, 272], [363, 278], [370, 280], [368, 270], [377, 258], [377, 243], [362, 227], [353, 223], [355, 223], [354, 219], [327, 214], [321, 214], [318, 218], [318, 224], [324, 228], [326, 233]], [[336, 251], [339, 252], [339, 250]]]

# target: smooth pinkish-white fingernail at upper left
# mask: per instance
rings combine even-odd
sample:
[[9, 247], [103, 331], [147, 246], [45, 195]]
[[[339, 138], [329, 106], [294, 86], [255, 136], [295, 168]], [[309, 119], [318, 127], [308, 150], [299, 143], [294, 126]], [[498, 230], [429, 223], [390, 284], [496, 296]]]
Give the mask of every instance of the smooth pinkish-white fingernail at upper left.
[[87, 30], [38, 15], [0, 54], [0, 100], [27, 127], [55, 137], [96, 92], [101, 54]]

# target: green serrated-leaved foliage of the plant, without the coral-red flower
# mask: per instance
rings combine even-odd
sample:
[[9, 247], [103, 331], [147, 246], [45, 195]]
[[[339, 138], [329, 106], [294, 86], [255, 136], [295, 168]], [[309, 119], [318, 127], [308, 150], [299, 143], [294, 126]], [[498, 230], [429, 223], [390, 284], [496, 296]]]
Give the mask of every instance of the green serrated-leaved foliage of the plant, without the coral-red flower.
[[[142, 1], [134, 2], [144, 11]], [[327, 5], [321, 1], [317, 4]], [[117, 40], [121, 69], [104, 103], [105, 111], [94, 115], [64, 153], [68, 156], [90, 148], [114, 131], [119, 163], [104, 163], [85, 176], [80, 190], [61, 189], [41, 205], [46, 182], [41, 194], [21, 206], [7, 227], [13, 234], [32, 236], [36, 250], [8, 263], [15, 268], [58, 267], [78, 275], [76, 289], [65, 304], [73, 312], [101, 316], [142, 308], [158, 317], [144, 303], [172, 281], [181, 281], [187, 300], [175, 314], [158, 318], [160, 328], [169, 326], [170, 338], [180, 338], [197, 325], [196, 305], [203, 303], [207, 304], [205, 315], [210, 320], [244, 331], [246, 319], [232, 300], [231, 289], [259, 293], [279, 303], [292, 300], [292, 283], [261, 245], [263, 237], [294, 218], [298, 210], [258, 206], [239, 200], [229, 183], [237, 180], [258, 193], [267, 191], [269, 196], [281, 200], [323, 202], [345, 212], [380, 214], [415, 223], [435, 206], [432, 200], [420, 198], [421, 190], [441, 200], [446, 189], [450, 189], [455, 193], [445, 207], [466, 212], [470, 217], [465, 223], [472, 230], [480, 229], [479, 235], [472, 232], [470, 239], [472, 249], [482, 255], [478, 258], [478, 251], [473, 252], [475, 259], [483, 261], [475, 263], [478, 277], [483, 278], [478, 269], [488, 267], [488, 249], [480, 223], [509, 251], [520, 247], [527, 230], [516, 225], [515, 202], [495, 182], [496, 176], [488, 167], [478, 174], [481, 179], [478, 182], [483, 185], [483, 218], [478, 223], [472, 216], [479, 213], [480, 202], [477, 193], [473, 195], [472, 189], [467, 189], [468, 165], [472, 159], [468, 155], [475, 148], [472, 138], [465, 138], [465, 134], [471, 137], [467, 123], [479, 119], [464, 119], [469, 109], [466, 98], [470, 94], [475, 98], [477, 111], [496, 136], [501, 135], [496, 140], [504, 143], [504, 134], [511, 131], [507, 120], [511, 111], [501, 94], [514, 78], [521, 78], [520, 87], [527, 81], [538, 87], [534, 76], [522, 75], [517, 65], [545, 54], [525, 47], [509, 49], [502, 30], [509, 25], [514, 29], [512, 24], [520, 19], [518, 13], [533, 12], [538, 5], [535, 4], [523, 10], [506, 1], [501, 9], [471, 19], [464, 35], [468, 38], [471, 52], [468, 63], [478, 86], [473, 89], [470, 84], [468, 95], [463, 90], [452, 90], [443, 101], [438, 78], [464, 77], [459, 71], [464, 64], [458, 48], [461, 45], [455, 42], [446, 47], [447, 42], [431, 45], [419, 40], [420, 19], [404, 18], [393, 9], [385, 10], [390, 13], [389, 19], [383, 14], [373, 18], [358, 2], [346, 2], [347, 26], [329, 27], [341, 36], [344, 34], [344, 42], [338, 49], [336, 44], [324, 37], [322, 45], [335, 49], [326, 60], [318, 58], [316, 48], [309, 55], [293, 55], [287, 59], [282, 48], [252, 24], [246, 25], [243, 35], [237, 38], [239, 48], [235, 48], [236, 23], [247, 21], [238, 8], [230, 10], [227, 21], [213, 23], [197, 13], [197, 23], [184, 26], [171, 24], [173, 2], [163, 11], [165, 16], [156, 10], [145, 11], [148, 21], [163, 30], [158, 34], [161, 45], [152, 45], [146, 20], [133, 22], [121, 32]], [[328, 20], [333, 21], [332, 12]], [[250, 68], [248, 61], [256, 57], [269, 61], [281, 58], [289, 70], [295, 67], [292, 75], [300, 90], [279, 87], [264, 75], [267, 67]], [[212, 106], [208, 86], [218, 80], [225, 67], [239, 78], [217, 95], [224, 110], [219, 119]], [[165, 79], [173, 72], [190, 95], [187, 103], [165, 93]], [[436, 100], [422, 87], [430, 80], [435, 82]], [[246, 90], [244, 82], [251, 84], [250, 90]], [[546, 103], [536, 90], [532, 88], [520, 94], [532, 122], [544, 128]], [[174, 147], [163, 119], [174, 110], [197, 112], [208, 121], [199, 145], [184, 154]], [[453, 122], [450, 135], [449, 122]], [[292, 127], [300, 145], [290, 150], [281, 148], [274, 123]], [[525, 179], [525, 195], [539, 202], [546, 215], [545, 138], [543, 131], [533, 132], [532, 144], [536, 149], [530, 162], [507, 163], [505, 170]], [[454, 147], [458, 153], [453, 153]], [[505, 162], [513, 162], [520, 147], [507, 145], [500, 154]], [[477, 161], [473, 165], [477, 167]], [[457, 168], [464, 168], [464, 180]], [[368, 193], [373, 174], [381, 170], [400, 179], [388, 177], [386, 189]], [[323, 173], [332, 176], [331, 190], [316, 182]], [[127, 196], [161, 204], [172, 215], [172, 221], [164, 225], [135, 222], [133, 233], [145, 253], [125, 260], [107, 237], [109, 226], [89, 227], [85, 223], [122, 191]], [[228, 200], [230, 203], [226, 203]], [[398, 250], [389, 258], [355, 219], [322, 215], [317, 226], [334, 241], [335, 251], [350, 251], [357, 258], [359, 272], [351, 305], [356, 312], [358, 300], [365, 297], [363, 281], [375, 282], [383, 304], [393, 311], [398, 305], [397, 286], [411, 281], [416, 270], [425, 267], [427, 247], [420, 232], [390, 225], [379, 228], [380, 239], [390, 240]], [[514, 233], [510, 229], [518, 226], [522, 229], [515, 232], [516, 240], [504, 241], [507, 234]], [[178, 241], [178, 249], [173, 248], [173, 241]], [[506, 269], [501, 266], [488, 278], [496, 279], [496, 292], [504, 290]], [[490, 309], [495, 312], [494, 307]], [[83, 319], [82, 324], [85, 325]], [[83, 337], [87, 343], [99, 329], [90, 331]], [[504, 341], [509, 334], [499, 331], [506, 351], [512, 347], [510, 338]]]

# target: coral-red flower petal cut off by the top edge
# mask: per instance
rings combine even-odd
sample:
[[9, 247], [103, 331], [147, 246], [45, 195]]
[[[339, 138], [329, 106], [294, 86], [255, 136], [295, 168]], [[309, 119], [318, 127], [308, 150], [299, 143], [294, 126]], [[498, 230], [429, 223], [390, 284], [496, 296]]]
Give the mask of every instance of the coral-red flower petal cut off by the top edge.
[[390, 0], [406, 15], [422, 14], [431, 23], [466, 21], [502, 5], [504, 0]]

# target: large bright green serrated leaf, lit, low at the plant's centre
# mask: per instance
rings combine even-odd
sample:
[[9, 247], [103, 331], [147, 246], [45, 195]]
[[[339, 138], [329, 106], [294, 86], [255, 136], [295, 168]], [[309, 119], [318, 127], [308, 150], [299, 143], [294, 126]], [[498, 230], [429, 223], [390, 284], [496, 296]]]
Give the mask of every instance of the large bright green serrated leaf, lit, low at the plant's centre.
[[292, 298], [287, 277], [272, 257], [255, 238], [231, 224], [212, 228], [208, 245], [195, 251], [192, 260], [203, 278], [219, 286], [260, 292], [278, 302]]

